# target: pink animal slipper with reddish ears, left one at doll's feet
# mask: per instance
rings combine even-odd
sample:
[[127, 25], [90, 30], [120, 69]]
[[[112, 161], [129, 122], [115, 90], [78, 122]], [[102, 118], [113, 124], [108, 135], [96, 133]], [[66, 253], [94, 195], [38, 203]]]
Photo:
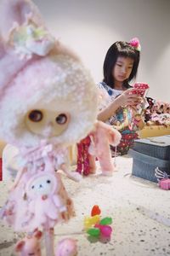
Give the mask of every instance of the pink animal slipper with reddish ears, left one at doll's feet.
[[42, 238], [42, 232], [36, 230], [32, 236], [26, 236], [24, 239], [18, 241], [14, 247], [14, 250], [20, 256], [42, 256], [40, 239]]

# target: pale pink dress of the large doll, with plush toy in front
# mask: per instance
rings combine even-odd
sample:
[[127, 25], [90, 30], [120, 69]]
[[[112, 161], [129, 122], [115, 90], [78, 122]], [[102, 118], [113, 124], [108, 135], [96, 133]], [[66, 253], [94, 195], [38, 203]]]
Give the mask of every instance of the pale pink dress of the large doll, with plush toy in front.
[[[55, 172], [65, 162], [65, 154], [64, 149], [45, 142], [39, 148], [25, 148], [22, 152], [26, 162], [20, 179], [11, 189], [1, 211], [1, 217], [14, 230], [31, 232], [46, 223], [53, 228], [54, 224], [74, 216], [71, 198], [67, 195], [59, 173]], [[50, 190], [40, 191], [37, 188], [37, 194], [31, 194], [34, 183], [45, 183], [45, 178], [47, 183], [55, 180]], [[32, 186], [29, 187], [29, 184]]]

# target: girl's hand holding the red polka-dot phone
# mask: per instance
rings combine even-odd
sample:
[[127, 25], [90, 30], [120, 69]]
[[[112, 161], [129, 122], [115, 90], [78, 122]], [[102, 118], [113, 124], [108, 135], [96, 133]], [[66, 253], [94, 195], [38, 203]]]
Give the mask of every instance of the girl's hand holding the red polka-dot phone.
[[143, 98], [137, 94], [132, 93], [133, 89], [125, 90], [120, 96], [117, 97], [117, 102], [122, 107], [125, 106], [136, 106], [143, 102]]

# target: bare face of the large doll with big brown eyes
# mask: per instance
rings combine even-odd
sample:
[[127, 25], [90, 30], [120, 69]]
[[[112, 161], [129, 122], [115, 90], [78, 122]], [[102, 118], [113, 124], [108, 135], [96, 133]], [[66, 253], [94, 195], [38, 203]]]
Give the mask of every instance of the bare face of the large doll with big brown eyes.
[[29, 131], [42, 137], [57, 137], [70, 123], [70, 114], [51, 109], [35, 108], [26, 114], [26, 126]]

